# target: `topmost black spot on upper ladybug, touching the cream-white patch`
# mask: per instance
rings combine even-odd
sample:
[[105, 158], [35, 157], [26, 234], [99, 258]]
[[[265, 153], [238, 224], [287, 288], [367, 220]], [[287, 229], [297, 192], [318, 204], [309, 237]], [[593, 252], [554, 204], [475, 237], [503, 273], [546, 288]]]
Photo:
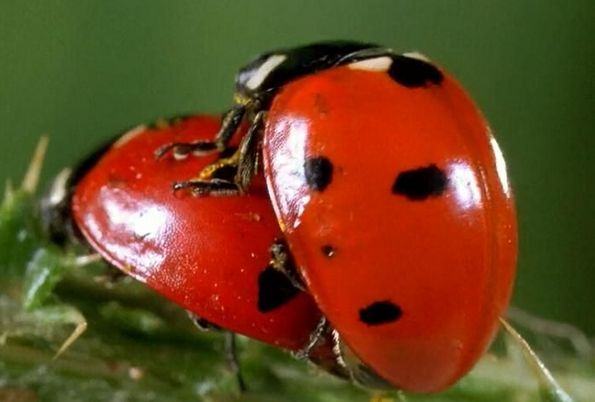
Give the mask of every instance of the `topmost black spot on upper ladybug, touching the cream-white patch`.
[[444, 78], [436, 66], [401, 55], [393, 56], [393, 62], [387, 73], [393, 80], [407, 88], [439, 85]]

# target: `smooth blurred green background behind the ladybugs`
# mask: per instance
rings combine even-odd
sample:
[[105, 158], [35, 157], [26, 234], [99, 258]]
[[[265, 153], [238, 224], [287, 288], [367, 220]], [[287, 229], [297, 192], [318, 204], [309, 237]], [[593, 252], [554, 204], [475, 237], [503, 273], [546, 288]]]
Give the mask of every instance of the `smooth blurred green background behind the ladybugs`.
[[0, 179], [115, 133], [220, 112], [253, 55], [324, 39], [419, 50], [491, 121], [516, 188], [514, 304], [595, 334], [595, 1], [0, 0]]

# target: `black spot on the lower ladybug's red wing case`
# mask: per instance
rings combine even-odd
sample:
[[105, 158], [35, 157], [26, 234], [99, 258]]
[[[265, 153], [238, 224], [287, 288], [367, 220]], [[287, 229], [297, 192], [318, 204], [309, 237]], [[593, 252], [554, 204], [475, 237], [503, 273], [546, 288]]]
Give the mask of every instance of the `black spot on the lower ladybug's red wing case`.
[[297, 296], [299, 289], [280, 271], [268, 266], [258, 275], [258, 311], [269, 313]]

